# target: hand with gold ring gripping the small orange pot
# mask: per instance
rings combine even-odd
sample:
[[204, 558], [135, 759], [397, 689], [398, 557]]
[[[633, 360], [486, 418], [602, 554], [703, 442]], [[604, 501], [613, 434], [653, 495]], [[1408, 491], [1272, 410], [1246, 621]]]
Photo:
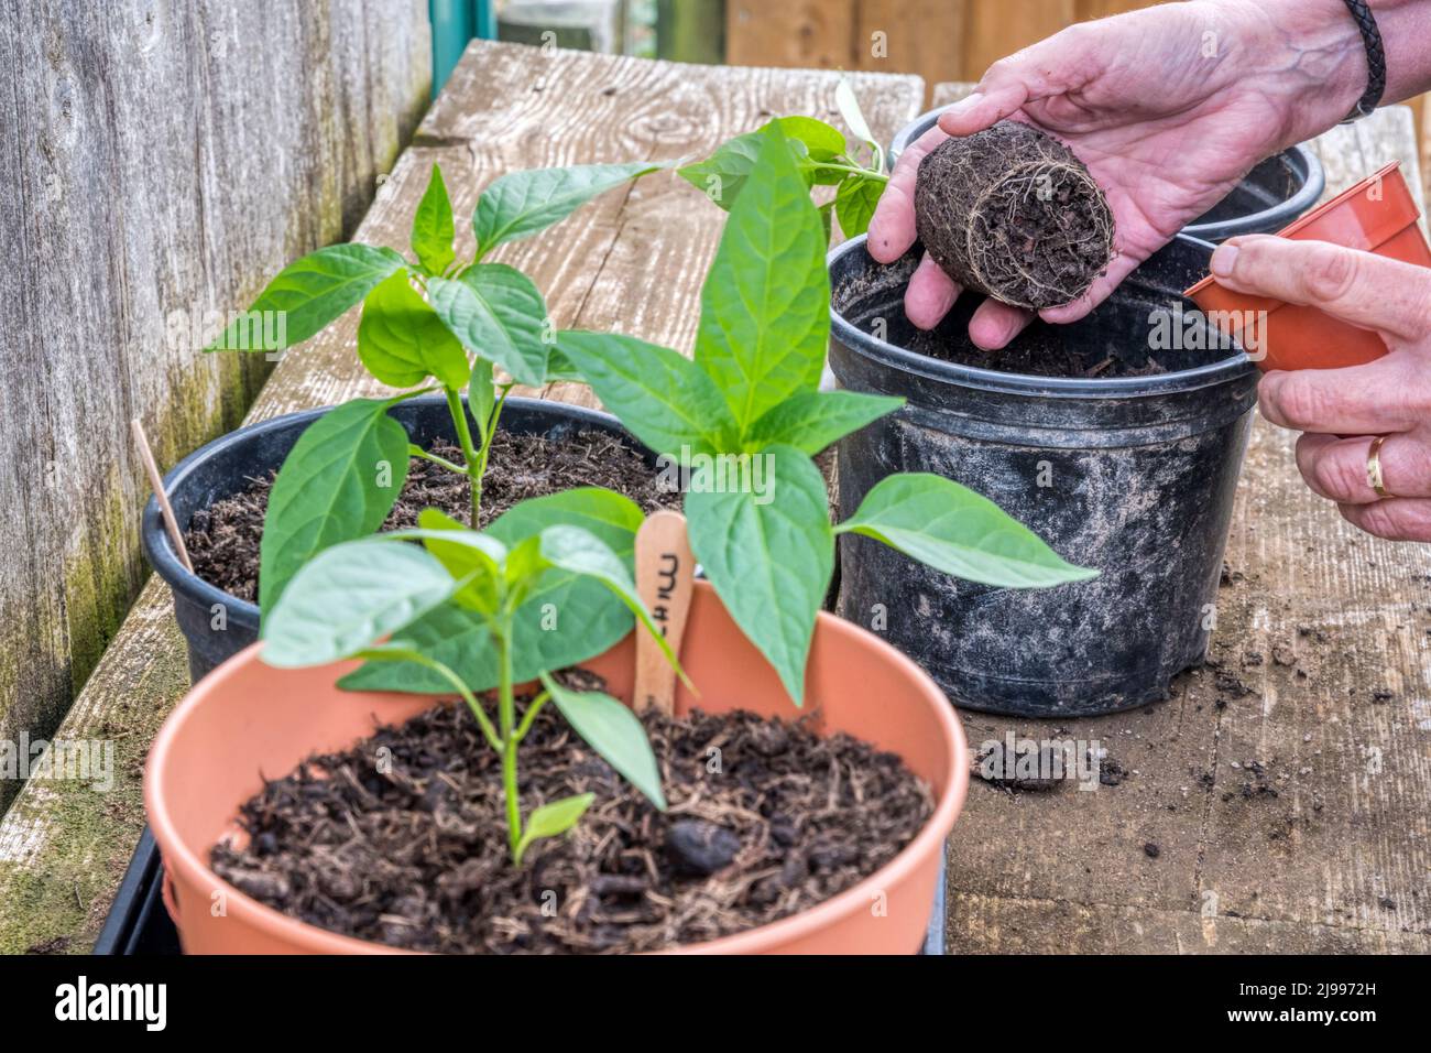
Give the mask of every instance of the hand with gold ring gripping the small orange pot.
[[[1262, 415], [1296, 428], [1296, 467], [1341, 514], [1377, 537], [1431, 542], [1431, 269], [1369, 252], [1269, 235], [1232, 238], [1212, 255], [1218, 282], [1311, 304], [1375, 330], [1390, 354], [1342, 370], [1268, 372]], [[1368, 461], [1377, 436], [1382, 489]]]

